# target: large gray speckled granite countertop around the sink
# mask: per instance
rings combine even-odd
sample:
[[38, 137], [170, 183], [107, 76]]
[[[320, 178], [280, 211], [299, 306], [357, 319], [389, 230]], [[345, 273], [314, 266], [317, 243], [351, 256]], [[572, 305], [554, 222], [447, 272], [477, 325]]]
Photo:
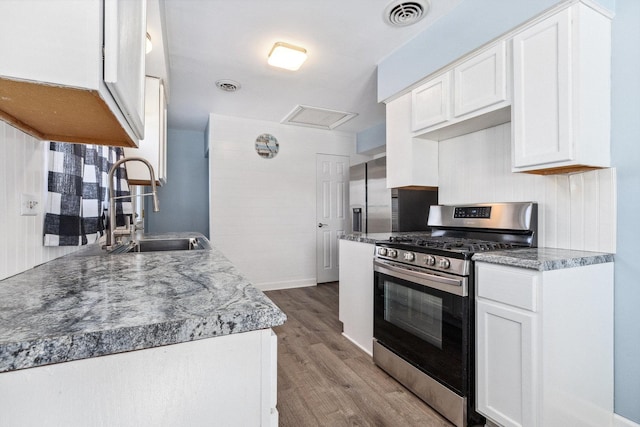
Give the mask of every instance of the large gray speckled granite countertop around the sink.
[[[204, 238], [155, 237], [167, 236]], [[215, 247], [110, 255], [91, 245], [0, 281], [0, 372], [285, 321]]]

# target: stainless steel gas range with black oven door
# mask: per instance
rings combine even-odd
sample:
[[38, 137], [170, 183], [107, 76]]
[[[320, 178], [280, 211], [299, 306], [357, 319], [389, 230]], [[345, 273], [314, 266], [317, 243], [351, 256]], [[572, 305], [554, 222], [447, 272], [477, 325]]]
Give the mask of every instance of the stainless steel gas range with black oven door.
[[431, 206], [431, 234], [376, 244], [375, 363], [458, 427], [475, 411], [477, 252], [537, 245], [535, 203]]

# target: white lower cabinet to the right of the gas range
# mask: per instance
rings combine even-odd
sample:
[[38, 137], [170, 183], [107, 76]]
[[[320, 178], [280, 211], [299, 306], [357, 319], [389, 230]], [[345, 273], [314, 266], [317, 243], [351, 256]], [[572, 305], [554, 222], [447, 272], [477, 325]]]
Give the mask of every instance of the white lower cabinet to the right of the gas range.
[[500, 426], [613, 422], [613, 263], [477, 262], [476, 406]]

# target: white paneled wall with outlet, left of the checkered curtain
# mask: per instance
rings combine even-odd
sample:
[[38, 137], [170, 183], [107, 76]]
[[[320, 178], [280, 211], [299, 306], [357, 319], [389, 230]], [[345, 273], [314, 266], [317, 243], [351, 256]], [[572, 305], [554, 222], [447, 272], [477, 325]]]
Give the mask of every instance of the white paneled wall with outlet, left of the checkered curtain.
[[[42, 245], [48, 147], [0, 121], [0, 279], [77, 250]], [[37, 216], [20, 215], [22, 193], [38, 198]]]

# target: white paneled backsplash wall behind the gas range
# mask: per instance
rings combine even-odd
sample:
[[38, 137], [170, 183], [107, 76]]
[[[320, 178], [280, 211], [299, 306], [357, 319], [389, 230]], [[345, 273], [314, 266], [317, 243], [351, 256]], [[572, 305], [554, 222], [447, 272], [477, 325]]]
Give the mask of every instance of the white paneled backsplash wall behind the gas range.
[[442, 204], [538, 202], [538, 246], [615, 252], [616, 171], [511, 172], [511, 124], [439, 143]]

